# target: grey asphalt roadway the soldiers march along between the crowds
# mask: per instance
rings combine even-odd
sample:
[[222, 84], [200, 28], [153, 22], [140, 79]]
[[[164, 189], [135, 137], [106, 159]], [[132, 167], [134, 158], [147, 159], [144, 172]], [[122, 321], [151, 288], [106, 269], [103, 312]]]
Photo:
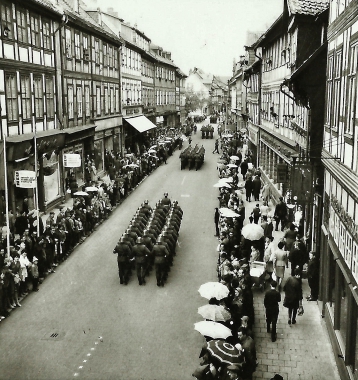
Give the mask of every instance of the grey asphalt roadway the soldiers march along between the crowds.
[[[199, 171], [181, 171], [176, 151], [1, 323], [1, 379], [192, 378], [203, 344], [193, 324], [207, 302], [197, 290], [216, 279], [217, 242], [214, 140], [198, 132], [195, 143], [206, 149]], [[113, 248], [139, 204], [164, 192], [184, 211], [168, 282], [158, 288], [152, 271], [146, 286], [135, 276], [120, 285]]]

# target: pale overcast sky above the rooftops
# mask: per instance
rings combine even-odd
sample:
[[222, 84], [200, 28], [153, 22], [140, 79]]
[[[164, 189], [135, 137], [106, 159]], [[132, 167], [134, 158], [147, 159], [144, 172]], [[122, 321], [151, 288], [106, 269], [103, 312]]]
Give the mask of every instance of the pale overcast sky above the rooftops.
[[97, 0], [97, 6], [136, 23], [184, 73], [200, 67], [230, 76], [234, 58], [245, 52], [246, 32], [264, 32], [282, 13], [283, 0]]

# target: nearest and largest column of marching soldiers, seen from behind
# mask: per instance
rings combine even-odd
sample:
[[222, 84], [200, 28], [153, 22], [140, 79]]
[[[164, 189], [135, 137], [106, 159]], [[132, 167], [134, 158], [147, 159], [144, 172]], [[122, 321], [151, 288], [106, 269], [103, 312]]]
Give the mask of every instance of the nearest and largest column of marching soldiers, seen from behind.
[[154, 266], [157, 286], [164, 286], [176, 255], [182, 216], [178, 202], [172, 202], [168, 193], [153, 209], [148, 200], [142, 203], [113, 250], [121, 284], [127, 285], [135, 270], [139, 285], [145, 285]]

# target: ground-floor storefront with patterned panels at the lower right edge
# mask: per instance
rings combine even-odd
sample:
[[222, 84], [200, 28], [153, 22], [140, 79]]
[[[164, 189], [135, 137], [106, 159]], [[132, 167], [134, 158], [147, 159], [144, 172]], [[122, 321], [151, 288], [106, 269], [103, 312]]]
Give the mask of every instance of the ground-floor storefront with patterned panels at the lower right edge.
[[334, 192], [324, 195], [320, 306], [342, 378], [358, 379], [358, 224], [342, 204], [350, 197]]

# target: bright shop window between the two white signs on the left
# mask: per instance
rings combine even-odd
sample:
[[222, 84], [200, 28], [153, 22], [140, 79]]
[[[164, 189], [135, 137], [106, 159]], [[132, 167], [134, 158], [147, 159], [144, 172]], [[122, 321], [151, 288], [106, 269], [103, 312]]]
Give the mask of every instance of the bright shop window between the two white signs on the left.
[[60, 173], [58, 155], [49, 152], [43, 156], [45, 202], [49, 203], [60, 195]]

